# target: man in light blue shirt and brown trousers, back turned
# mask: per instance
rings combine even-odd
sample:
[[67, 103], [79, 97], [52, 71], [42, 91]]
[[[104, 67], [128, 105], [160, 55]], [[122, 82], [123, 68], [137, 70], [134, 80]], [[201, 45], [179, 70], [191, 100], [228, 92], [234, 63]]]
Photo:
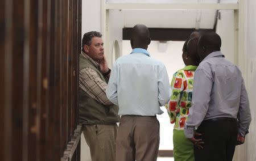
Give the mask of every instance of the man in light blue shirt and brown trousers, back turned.
[[115, 142], [115, 159], [120, 161], [156, 160], [159, 122], [156, 114], [170, 99], [166, 67], [150, 57], [150, 33], [137, 24], [131, 35], [133, 51], [118, 58], [110, 75], [106, 95], [119, 105], [122, 115]]

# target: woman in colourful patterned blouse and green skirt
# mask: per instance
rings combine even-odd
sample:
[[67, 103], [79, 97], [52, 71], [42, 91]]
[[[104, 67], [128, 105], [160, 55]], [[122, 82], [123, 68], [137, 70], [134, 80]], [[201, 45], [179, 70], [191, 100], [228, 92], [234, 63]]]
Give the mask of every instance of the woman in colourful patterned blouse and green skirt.
[[197, 40], [199, 33], [193, 32], [185, 41], [182, 58], [185, 63], [183, 69], [178, 70], [171, 82], [171, 99], [166, 104], [171, 124], [174, 124], [174, 159], [175, 161], [191, 161], [194, 159], [193, 143], [184, 135], [184, 125], [191, 107], [193, 76], [199, 65], [197, 56]]

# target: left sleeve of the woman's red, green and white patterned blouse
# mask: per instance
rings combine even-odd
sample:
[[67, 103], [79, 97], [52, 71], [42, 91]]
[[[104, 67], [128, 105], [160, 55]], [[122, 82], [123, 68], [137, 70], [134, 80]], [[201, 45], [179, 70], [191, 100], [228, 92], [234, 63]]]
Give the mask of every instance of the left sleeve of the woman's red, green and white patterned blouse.
[[171, 124], [174, 124], [176, 121], [177, 113], [179, 113], [179, 101], [180, 101], [180, 92], [183, 91], [183, 73], [177, 71], [172, 77], [171, 82], [171, 98], [170, 101], [166, 104], [167, 112], [170, 116]]

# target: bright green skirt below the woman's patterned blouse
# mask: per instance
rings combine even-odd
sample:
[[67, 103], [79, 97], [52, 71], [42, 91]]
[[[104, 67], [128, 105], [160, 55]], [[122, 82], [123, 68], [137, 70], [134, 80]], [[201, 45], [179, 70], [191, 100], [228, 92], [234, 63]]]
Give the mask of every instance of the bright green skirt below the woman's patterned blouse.
[[194, 161], [193, 143], [185, 137], [183, 130], [174, 129], [174, 160]]

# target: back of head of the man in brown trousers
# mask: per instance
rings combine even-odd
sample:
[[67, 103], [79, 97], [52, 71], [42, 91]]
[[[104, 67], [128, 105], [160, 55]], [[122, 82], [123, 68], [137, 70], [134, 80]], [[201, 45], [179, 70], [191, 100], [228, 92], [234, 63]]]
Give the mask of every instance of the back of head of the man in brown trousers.
[[131, 48], [147, 49], [150, 44], [149, 29], [143, 24], [137, 24], [131, 31]]

